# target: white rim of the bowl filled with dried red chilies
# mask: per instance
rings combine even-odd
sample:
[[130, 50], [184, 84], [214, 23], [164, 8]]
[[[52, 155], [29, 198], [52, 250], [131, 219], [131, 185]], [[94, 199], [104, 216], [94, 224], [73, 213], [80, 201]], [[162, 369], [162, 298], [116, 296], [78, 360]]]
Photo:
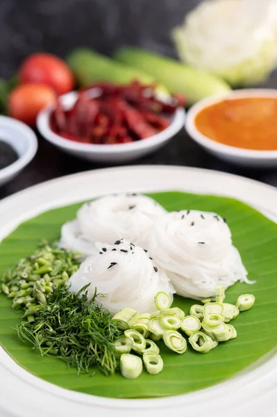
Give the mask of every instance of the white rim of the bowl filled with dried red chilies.
[[[74, 104], [76, 98], [78, 96], [78, 92], [72, 91], [60, 97], [62, 101], [62, 106], [65, 108], [69, 108]], [[146, 138], [143, 140], [137, 140], [136, 142], [130, 143], [118, 143], [115, 145], [96, 145], [92, 143], [78, 143], [73, 142], [71, 140], [62, 138], [62, 136], [57, 135], [54, 133], [49, 126], [49, 115], [51, 111], [53, 111], [53, 105], [46, 106], [43, 108], [40, 113], [37, 115], [37, 129], [40, 131], [40, 134], [49, 142], [53, 143], [58, 147], [62, 147], [64, 149], [75, 150], [77, 152], [95, 152], [96, 154], [119, 154], [120, 152], [127, 152], [127, 151], [137, 151], [140, 149], [151, 148], [155, 145], [158, 145], [167, 138], [171, 138], [174, 136], [178, 131], [183, 127], [185, 122], [185, 109], [183, 107], [178, 107], [172, 115], [171, 124], [160, 131], [156, 135], [151, 136], [150, 138]]]

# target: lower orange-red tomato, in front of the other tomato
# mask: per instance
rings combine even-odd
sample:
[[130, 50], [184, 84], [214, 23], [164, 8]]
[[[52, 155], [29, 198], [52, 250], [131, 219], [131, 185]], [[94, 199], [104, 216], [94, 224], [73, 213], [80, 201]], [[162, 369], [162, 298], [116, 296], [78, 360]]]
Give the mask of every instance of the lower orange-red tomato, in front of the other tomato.
[[55, 100], [56, 93], [48, 85], [19, 85], [8, 97], [8, 115], [33, 126], [37, 113]]

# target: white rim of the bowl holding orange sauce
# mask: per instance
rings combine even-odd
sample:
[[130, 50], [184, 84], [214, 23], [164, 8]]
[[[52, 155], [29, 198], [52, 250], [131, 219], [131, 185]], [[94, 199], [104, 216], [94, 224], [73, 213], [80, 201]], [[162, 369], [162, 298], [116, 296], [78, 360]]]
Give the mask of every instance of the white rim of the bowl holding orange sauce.
[[190, 137], [198, 142], [199, 145], [210, 149], [213, 152], [220, 152], [221, 154], [228, 154], [229, 156], [237, 156], [249, 159], [265, 159], [271, 160], [277, 158], [276, 151], [258, 151], [255, 149], [244, 149], [239, 147], [233, 147], [229, 145], [224, 145], [223, 143], [216, 142], [208, 138], [208, 136], [203, 135], [195, 125], [196, 115], [206, 107], [212, 106], [212, 104], [219, 103], [224, 99], [238, 99], [238, 98], [247, 98], [247, 97], [272, 97], [277, 99], [277, 90], [273, 88], [249, 88], [242, 90], [233, 90], [224, 95], [216, 95], [212, 97], [207, 97], [198, 101], [194, 106], [190, 108], [187, 112], [187, 117], [185, 120], [185, 129], [189, 133]]

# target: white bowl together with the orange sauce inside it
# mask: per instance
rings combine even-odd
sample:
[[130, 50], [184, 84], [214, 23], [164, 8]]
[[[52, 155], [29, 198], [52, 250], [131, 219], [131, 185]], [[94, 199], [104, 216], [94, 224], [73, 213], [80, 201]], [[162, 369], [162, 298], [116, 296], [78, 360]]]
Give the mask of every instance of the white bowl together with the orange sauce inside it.
[[277, 90], [208, 97], [187, 112], [185, 129], [207, 152], [245, 167], [277, 167]]

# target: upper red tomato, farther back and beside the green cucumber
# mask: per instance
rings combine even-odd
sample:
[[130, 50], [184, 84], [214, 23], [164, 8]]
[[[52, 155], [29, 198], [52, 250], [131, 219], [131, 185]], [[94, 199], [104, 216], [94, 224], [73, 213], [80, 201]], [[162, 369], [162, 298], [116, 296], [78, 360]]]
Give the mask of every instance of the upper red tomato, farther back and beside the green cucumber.
[[74, 76], [67, 64], [58, 56], [38, 53], [28, 56], [19, 67], [19, 82], [46, 84], [65, 94], [74, 88]]

